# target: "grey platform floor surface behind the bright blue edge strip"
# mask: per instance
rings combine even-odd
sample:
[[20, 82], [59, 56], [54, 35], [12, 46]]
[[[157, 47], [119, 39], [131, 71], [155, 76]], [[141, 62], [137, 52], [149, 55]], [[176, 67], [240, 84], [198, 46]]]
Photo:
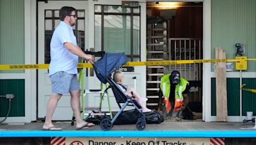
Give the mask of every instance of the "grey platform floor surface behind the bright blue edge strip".
[[[42, 130], [43, 122], [32, 122], [32, 123], [6, 123], [0, 124], [0, 131], [31, 131], [31, 130]], [[74, 130], [76, 127], [70, 125], [69, 121], [56, 121], [54, 125], [61, 127], [62, 131]], [[255, 130], [255, 123], [247, 122], [205, 122], [201, 120], [164, 120], [163, 123], [159, 124], [147, 124], [145, 130], [148, 131], [243, 131], [243, 130]], [[87, 128], [85, 130], [101, 130], [100, 125], [95, 127]], [[111, 130], [122, 130], [122, 131], [136, 131], [135, 125], [114, 125]]]

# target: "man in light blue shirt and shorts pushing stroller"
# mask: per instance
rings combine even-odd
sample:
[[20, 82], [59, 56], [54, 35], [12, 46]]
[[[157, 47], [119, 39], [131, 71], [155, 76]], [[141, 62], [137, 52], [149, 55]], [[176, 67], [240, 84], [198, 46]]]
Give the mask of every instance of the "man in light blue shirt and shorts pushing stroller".
[[51, 79], [51, 97], [47, 102], [45, 123], [43, 130], [61, 130], [52, 124], [52, 115], [61, 96], [70, 93], [70, 103], [76, 117], [76, 128], [92, 127], [81, 118], [80, 113], [80, 86], [77, 80], [78, 57], [88, 60], [93, 64], [92, 55], [85, 54], [77, 46], [76, 36], [72, 26], [76, 24], [76, 9], [63, 6], [60, 10], [60, 24], [56, 27], [51, 39], [51, 62], [49, 77]]

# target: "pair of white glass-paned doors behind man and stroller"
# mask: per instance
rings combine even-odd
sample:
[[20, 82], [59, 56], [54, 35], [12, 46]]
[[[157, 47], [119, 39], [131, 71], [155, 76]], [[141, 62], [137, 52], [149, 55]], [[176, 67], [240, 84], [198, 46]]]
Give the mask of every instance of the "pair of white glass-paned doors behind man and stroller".
[[[85, 49], [90, 48], [91, 50], [92, 48], [95, 52], [102, 50], [106, 52], [124, 52], [125, 50], [127, 52], [125, 52], [125, 54], [127, 54], [129, 60], [139, 61], [141, 58], [144, 59], [145, 51], [140, 50], [140, 41], [141, 38], [145, 38], [145, 32], [141, 32], [140, 27], [141, 23], [145, 24], [145, 22], [141, 20], [140, 8], [122, 8], [122, 1], [119, 0], [47, 1], [47, 3], [45, 3], [45, 1], [38, 1], [38, 64], [48, 64], [50, 62], [49, 43], [51, 41], [52, 32], [56, 25], [58, 25], [58, 10], [60, 10], [62, 6], [72, 6], [78, 10], [77, 26], [74, 26], [73, 30], [77, 36], [77, 41], [81, 38], [81, 43], [78, 43], [81, 44], [81, 48], [83, 48], [84, 45]], [[145, 8], [145, 4], [142, 3], [141, 7]], [[84, 11], [81, 17], [78, 15], [79, 11]], [[145, 11], [143, 11], [143, 13], [145, 13]], [[78, 20], [81, 21], [81, 23], [79, 23]], [[81, 25], [79, 26], [79, 24], [82, 25], [83, 30], [80, 30]], [[84, 38], [79, 38], [79, 34]], [[122, 39], [122, 41], [120, 41], [120, 39]], [[118, 45], [115, 46], [115, 44]], [[126, 47], [123, 48], [122, 46]], [[128, 48], [131, 51], [129, 51]], [[133, 86], [134, 79], [132, 78], [136, 76], [138, 82], [136, 86], [138, 88], [145, 88], [144, 66], [134, 67], [132, 72], [125, 72], [125, 76], [127, 78], [127, 85]], [[84, 88], [86, 89], [100, 88], [99, 79], [93, 75], [93, 71], [90, 71], [90, 69], [84, 72], [84, 84]], [[146, 95], [142, 89], [138, 92], [141, 96]], [[50, 95], [51, 81], [49, 79], [49, 73], [47, 69], [38, 70], [39, 119], [45, 116], [45, 107]], [[109, 98], [111, 102], [113, 102], [113, 104], [111, 104], [112, 111], [115, 111], [115, 109], [119, 110], [119, 107], [115, 103], [113, 93], [109, 93]], [[84, 105], [99, 106], [99, 102], [100, 97], [98, 94], [90, 94], [90, 97], [86, 96]], [[103, 102], [102, 111], [105, 110], [108, 111], [108, 104]], [[52, 120], [70, 120], [71, 117], [70, 96], [63, 95], [60, 102], [58, 102]]]

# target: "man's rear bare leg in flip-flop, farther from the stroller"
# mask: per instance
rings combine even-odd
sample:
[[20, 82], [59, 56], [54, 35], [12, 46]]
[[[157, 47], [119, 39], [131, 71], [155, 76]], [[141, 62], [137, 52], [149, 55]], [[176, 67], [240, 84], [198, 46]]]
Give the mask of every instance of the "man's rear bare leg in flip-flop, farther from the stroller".
[[[48, 129], [48, 128], [54, 127], [54, 125], [52, 125], [52, 115], [56, 109], [56, 106], [57, 106], [60, 98], [61, 98], [61, 94], [51, 93], [51, 97], [49, 98], [49, 100], [47, 102], [45, 123], [44, 123], [43, 129]], [[54, 129], [60, 130], [61, 128], [51, 128], [51, 129], [52, 130], [54, 130]]]

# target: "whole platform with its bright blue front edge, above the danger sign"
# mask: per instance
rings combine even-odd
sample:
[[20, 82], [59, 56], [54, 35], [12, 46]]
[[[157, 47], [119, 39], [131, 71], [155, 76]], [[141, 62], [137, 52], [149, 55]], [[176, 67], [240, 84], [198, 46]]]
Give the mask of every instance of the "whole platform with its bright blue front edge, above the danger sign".
[[[211, 141], [211, 139], [224, 139], [225, 144], [255, 144], [255, 123], [247, 122], [204, 122], [202, 120], [173, 121], [164, 120], [159, 124], [147, 124], [143, 131], [136, 130], [136, 125], [114, 125], [109, 131], [102, 131], [100, 125], [76, 130], [71, 122], [54, 122], [61, 127], [61, 131], [42, 130], [44, 122], [10, 123], [0, 125], [0, 145], [13, 144], [52, 144], [53, 139], [89, 139], [93, 141], [145, 141], [152, 139], [166, 139], [166, 141]], [[126, 139], [126, 140], [125, 140]], [[101, 141], [100, 140], [100, 141]], [[151, 141], [150, 140], [150, 141]], [[160, 141], [159, 140], [159, 141]], [[62, 141], [62, 140], [61, 140]], [[64, 142], [64, 143], [65, 143]], [[86, 143], [87, 144], [87, 143]], [[120, 143], [123, 144], [123, 143]], [[149, 143], [148, 143], [149, 144]], [[193, 143], [194, 144], [194, 143]], [[210, 143], [207, 143], [210, 144]]]

